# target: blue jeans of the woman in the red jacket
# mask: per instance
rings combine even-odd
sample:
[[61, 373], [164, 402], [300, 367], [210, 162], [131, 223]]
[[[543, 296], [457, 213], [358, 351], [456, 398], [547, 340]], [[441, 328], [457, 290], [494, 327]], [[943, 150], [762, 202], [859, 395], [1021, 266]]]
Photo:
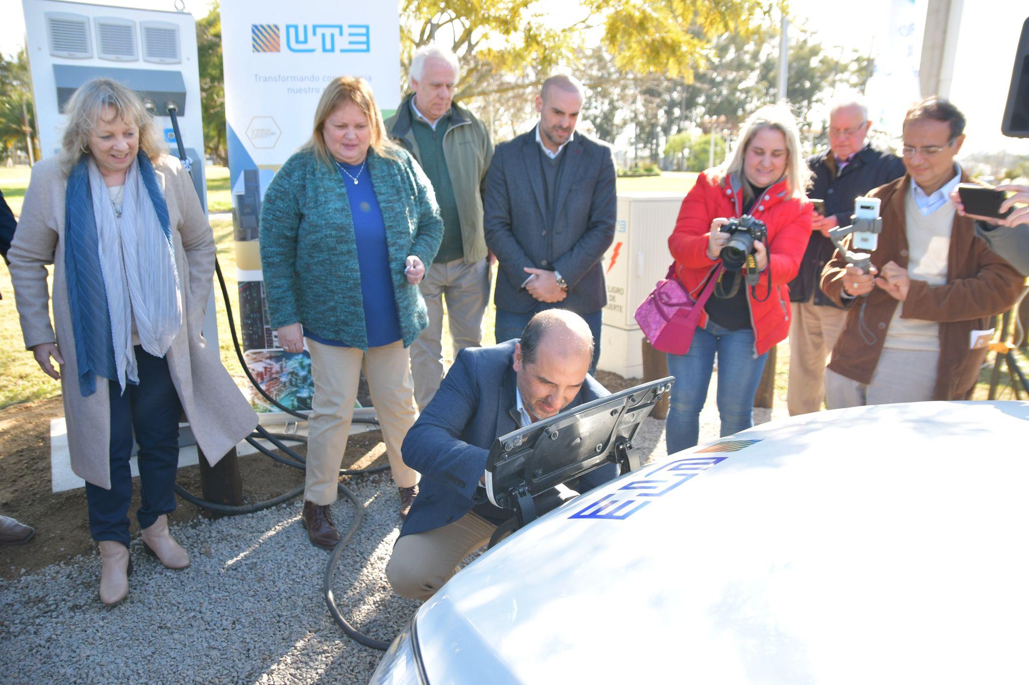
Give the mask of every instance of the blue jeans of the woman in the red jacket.
[[761, 382], [768, 353], [754, 357], [754, 333], [749, 328], [729, 330], [708, 320], [707, 326], [697, 329], [686, 354], [668, 355], [668, 372], [675, 376], [665, 422], [665, 441], [670, 455], [697, 444], [715, 354], [721, 435], [732, 435], [754, 425], [754, 393]]

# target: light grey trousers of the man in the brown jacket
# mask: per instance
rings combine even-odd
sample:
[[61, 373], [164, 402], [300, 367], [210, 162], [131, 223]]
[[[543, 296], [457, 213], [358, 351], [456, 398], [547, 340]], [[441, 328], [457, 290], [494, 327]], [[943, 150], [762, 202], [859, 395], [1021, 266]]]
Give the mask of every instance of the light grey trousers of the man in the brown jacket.
[[867, 385], [826, 369], [825, 404], [830, 409], [842, 409], [868, 404], [928, 402], [935, 394], [938, 364], [938, 352], [884, 348]]

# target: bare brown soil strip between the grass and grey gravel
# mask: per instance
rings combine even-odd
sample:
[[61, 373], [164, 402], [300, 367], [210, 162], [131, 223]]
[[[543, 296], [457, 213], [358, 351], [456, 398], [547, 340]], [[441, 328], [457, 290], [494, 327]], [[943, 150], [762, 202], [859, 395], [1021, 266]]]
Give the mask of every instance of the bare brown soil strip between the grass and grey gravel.
[[[607, 371], [597, 380], [611, 392], [639, 383]], [[90, 538], [85, 491], [51, 492], [50, 420], [64, 416], [61, 398], [27, 402], [0, 410], [0, 514], [13, 516], [36, 529], [28, 544], [0, 547], [0, 577], [13, 578], [79, 554], [92, 554], [96, 543]], [[294, 447], [307, 454], [306, 445]], [[367, 468], [386, 464], [386, 447], [379, 431], [352, 435], [344, 456], [345, 468]], [[246, 502], [273, 498], [304, 482], [301, 471], [277, 464], [262, 455], [240, 458], [243, 495]], [[135, 511], [139, 508], [139, 483], [134, 479], [130, 507], [132, 534], [138, 533]], [[177, 482], [190, 493], [201, 494], [200, 467], [179, 469]], [[297, 500], [297, 507], [299, 501]], [[203, 515], [199, 507], [178, 499], [169, 516], [173, 524], [194, 520]]]

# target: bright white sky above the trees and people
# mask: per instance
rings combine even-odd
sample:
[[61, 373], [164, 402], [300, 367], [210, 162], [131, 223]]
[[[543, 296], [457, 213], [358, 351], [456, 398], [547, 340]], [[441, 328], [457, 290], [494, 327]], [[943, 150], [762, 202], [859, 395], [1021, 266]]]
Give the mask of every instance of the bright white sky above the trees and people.
[[[174, 10], [174, 0], [84, 0], [93, 4]], [[208, 13], [208, 0], [180, 0], [185, 10], [201, 17]], [[790, 0], [790, 10], [799, 22], [813, 31], [830, 52], [840, 46], [845, 50], [868, 52], [881, 49], [886, 40], [886, 25], [891, 0], [826, 2], [826, 0]], [[580, 19], [581, 11], [573, 0], [552, 3], [554, 21]], [[983, 11], [989, 7], [989, 11]], [[25, 20], [21, 0], [0, 0], [4, 22], [0, 23], [0, 51], [11, 55], [25, 42]], [[924, 22], [926, 0], [916, 0], [916, 12]], [[841, 8], [847, 8], [843, 10]], [[1006, 138], [1000, 133], [1012, 66], [1022, 24], [1029, 17], [1026, 0], [964, 0], [954, 80], [950, 99], [968, 119], [967, 139], [963, 152], [1007, 150], [1029, 154], [1029, 139]], [[902, 110], [918, 94], [909, 97], [891, 93], [895, 102], [870, 103]]]

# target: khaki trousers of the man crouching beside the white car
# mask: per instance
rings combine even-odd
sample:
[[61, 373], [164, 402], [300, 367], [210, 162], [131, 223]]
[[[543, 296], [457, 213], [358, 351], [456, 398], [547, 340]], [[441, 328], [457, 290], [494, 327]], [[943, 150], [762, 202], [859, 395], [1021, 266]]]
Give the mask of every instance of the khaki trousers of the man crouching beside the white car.
[[469, 511], [453, 524], [401, 536], [386, 565], [389, 584], [400, 597], [428, 600], [460, 570], [461, 560], [487, 544], [496, 530]]

